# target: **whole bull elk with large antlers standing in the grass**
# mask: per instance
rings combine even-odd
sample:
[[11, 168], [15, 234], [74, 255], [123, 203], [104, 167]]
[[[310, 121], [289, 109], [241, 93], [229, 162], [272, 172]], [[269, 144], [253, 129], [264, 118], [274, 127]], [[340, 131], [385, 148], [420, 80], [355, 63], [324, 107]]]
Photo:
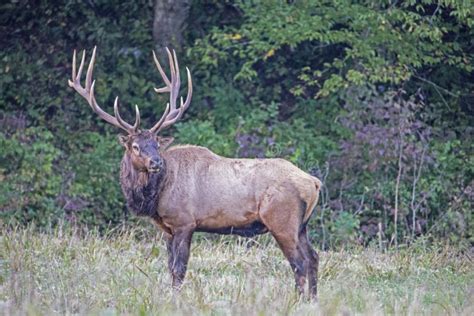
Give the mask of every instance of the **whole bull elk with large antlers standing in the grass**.
[[167, 148], [172, 138], [157, 136], [176, 123], [189, 107], [193, 93], [188, 68], [186, 101], [180, 98], [180, 74], [176, 53], [166, 49], [171, 78], [153, 58], [165, 86], [157, 93], [169, 93], [169, 103], [160, 120], [150, 129], [140, 128], [135, 106], [135, 123], [119, 114], [118, 97], [114, 115], [102, 110], [94, 96], [92, 80], [96, 48], [88, 66], [85, 86], [81, 84], [85, 51], [76, 71], [76, 52], [69, 86], [87, 100], [92, 110], [108, 123], [123, 129], [125, 147], [120, 184], [128, 208], [148, 216], [164, 232], [168, 268], [173, 287], [183, 282], [194, 232], [236, 234], [251, 237], [270, 232], [294, 271], [296, 289], [317, 294], [319, 258], [307, 235], [307, 224], [318, 201], [321, 182], [283, 159], [231, 159], [207, 148], [184, 145]]

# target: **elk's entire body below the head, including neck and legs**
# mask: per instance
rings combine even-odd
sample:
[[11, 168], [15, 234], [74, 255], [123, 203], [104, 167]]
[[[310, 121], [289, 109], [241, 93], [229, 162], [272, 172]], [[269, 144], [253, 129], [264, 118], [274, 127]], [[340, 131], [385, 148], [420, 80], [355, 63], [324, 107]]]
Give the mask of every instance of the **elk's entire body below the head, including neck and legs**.
[[295, 271], [303, 292], [306, 277], [316, 296], [318, 257], [306, 224], [321, 182], [283, 159], [229, 159], [207, 148], [175, 146], [161, 152], [163, 173], [137, 172], [122, 161], [129, 207], [147, 215], [167, 235], [173, 284], [184, 278], [195, 231], [253, 236], [269, 231]]

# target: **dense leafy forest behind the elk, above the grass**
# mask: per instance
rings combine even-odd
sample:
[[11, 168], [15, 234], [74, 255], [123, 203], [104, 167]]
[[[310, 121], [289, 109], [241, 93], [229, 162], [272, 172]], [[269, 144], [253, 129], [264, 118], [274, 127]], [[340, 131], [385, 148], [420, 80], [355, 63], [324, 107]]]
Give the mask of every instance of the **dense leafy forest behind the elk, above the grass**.
[[319, 248], [473, 242], [471, 1], [5, 1], [0, 223], [107, 231], [135, 221], [122, 149], [67, 85], [97, 45], [96, 96], [161, 116], [152, 50], [178, 52], [192, 104], [167, 134], [227, 157], [282, 157], [324, 182]]

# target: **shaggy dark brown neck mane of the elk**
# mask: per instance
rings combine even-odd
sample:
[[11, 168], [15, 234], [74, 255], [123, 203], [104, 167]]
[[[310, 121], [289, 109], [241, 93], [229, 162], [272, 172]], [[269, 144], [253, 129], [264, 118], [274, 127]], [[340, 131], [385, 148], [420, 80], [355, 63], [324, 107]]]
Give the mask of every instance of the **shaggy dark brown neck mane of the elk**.
[[165, 168], [159, 173], [138, 172], [125, 153], [120, 165], [120, 184], [130, 211], [138, 216], [158, 217], [159, 195]]

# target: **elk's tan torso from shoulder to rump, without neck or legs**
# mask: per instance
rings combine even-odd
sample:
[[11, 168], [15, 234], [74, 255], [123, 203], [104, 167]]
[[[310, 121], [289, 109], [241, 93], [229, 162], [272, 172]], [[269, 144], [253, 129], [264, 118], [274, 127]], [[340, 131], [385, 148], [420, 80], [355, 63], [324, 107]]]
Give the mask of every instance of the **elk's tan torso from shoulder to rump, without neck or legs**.
[[[314, 209], [321, 186], [318, 179], [283, 159], [229, 159], [197, 146], [172, 147], [162, 157], [166, 176], [157, 211], [169, 227], [190, 223], [197, 229], [242, 227], [265, 222], [268, 213], [284, 224], [302, 224]], [[301, 201], [307, 208], [294, 214]], [[268, 209], [273, 204], [280, 210]]]

